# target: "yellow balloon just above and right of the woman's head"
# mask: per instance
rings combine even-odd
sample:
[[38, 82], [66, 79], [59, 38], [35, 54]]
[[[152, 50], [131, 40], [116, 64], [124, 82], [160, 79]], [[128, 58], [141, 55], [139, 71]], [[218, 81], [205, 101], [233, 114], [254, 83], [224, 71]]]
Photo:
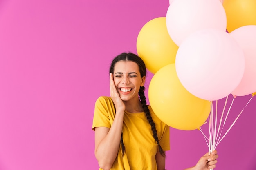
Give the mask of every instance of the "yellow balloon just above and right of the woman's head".
[[166, 27], [166, 17], [147, 22], [137, 37], [137, 53], [146, 68], [155, 74], [160, 68], [175, 62], [178, 46], [173, 42]]

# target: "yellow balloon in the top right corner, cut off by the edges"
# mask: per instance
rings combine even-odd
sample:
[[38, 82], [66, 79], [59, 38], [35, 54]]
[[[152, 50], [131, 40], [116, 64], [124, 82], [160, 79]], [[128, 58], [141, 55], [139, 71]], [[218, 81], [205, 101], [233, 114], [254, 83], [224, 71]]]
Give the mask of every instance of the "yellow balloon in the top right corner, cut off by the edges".
[[256, 25], [256, 0], [224, 0], [223, 7], [227, 15], [227, 31]]

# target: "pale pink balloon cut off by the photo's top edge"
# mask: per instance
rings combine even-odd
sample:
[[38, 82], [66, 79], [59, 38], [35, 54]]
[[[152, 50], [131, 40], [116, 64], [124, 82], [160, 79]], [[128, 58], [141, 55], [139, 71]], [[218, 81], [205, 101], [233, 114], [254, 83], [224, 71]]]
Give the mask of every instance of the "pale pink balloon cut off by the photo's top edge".
[[225, 10], [218, 0], [173, 0], [166, 13], [168, 33], [180, 46], [191, 33], [200, 29], [226, 31]]

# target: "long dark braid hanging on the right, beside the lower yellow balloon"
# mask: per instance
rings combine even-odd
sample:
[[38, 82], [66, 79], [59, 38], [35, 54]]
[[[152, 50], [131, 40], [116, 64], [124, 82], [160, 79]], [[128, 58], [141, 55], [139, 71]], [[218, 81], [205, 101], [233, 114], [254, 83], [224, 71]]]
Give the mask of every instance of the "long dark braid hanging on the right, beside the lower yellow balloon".
[[157, 130], [155, 128], [155, 123], [154, 123], [154, 121], [151, 117], [150, 111], [149, 111], [148, 106], [147, 106], [144, 90], [145, 90], [144, 86], [140, 87], [140, 89], [139, 89], [139, 98], [141, 100], [141, 104], [142, 104], [142, 107], [144, 109], [144, 112], [146, 113], [146, 117], [148, 119], [148, 122], [151, 125], [151, 130], [153, 132], [153, 137], [154, 137], [155, 141], [157, 141], [159, 152], [160, 152], [161, 155], [163, 155], [165, 157], [164, 150], [162, 149], [162, 147], [159, 144], [159, 140], [158, 140], [158, 137], [157, 137]]

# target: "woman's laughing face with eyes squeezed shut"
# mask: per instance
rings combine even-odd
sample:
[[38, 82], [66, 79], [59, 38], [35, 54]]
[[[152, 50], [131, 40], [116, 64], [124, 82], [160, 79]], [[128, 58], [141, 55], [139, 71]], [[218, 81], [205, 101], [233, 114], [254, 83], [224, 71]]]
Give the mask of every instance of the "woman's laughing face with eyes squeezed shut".
[[146, 77], [139, 73], [139, 66], [132, 61], [119, 61], [114, 67], [114, 82], [121, 99], [137, 100], [140, 86], [144, 86]]

